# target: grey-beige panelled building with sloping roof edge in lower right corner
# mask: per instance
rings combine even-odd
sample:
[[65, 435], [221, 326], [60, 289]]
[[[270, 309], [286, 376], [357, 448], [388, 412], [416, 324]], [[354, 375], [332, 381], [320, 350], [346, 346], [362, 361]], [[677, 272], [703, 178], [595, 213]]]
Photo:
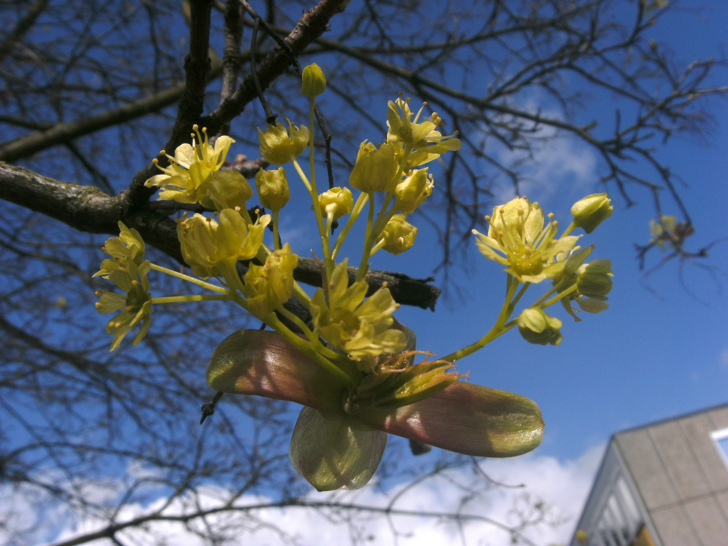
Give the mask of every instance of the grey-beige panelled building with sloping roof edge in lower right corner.
[[570, 546], [728, 546], [728, 404], [612, 436]]

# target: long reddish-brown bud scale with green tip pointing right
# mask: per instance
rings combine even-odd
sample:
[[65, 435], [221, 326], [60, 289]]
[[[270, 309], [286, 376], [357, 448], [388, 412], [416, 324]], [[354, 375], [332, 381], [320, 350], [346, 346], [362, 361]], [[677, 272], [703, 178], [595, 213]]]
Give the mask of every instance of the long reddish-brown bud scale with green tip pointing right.
[[510, 457], [539, 446], [543, 420], [526, 397], [455, 381], [436, 395], [357, 418], [379, 430], [465, 455]]

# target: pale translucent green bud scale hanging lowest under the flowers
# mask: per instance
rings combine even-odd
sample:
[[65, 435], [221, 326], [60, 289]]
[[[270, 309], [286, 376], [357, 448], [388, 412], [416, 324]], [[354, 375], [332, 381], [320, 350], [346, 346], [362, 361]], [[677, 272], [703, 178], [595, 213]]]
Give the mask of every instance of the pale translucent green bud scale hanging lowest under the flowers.
[[290, 439], [288, 458], [318, 491], [358, 489], [376, 471], [387, 434], [341, 412], [303, 408]]

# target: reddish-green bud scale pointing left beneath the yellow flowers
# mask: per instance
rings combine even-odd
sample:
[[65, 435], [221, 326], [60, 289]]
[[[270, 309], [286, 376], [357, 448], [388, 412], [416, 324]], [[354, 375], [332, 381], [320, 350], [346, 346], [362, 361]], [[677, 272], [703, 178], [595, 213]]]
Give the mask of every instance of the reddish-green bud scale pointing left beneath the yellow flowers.
[[344, 384], [279, 333], [244, 330], [223, 339], [205, 373], [215, 390], [342, 411]]

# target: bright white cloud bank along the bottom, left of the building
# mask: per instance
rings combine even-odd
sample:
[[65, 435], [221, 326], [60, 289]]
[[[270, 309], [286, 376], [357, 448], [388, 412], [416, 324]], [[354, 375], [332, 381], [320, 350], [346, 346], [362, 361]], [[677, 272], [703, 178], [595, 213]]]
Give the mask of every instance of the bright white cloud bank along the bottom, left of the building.
[[[360, 510], [317, 510], [306, 507], [279, 509], [266, 507], [241, 513], [222, 513], [208, 518], [215, 529], [221, 529], [223, 537], [232, 539], [232, 544], [250, 546], [278, 545], [284, 537], [293, 543], [312, 546], [339, 546], [349, 543], [350, 537], [360, 542], [376, 545], [435, 546], [459, 544], [466, 539], [468, 545], [506, 546], [510, 545], [510, 534], [493, 524], [483, 521], [467, 521], [459, 529], [455, 523], [442, 518], [422, 518], [406, 515], [409, 511], [427, 513], [461, 513], [489, 518], [507, 526], [517, 526], [521, 518], [540, 518], [537, 503], [543, 503], [545, 518], [535, 526], [523, 531], [539, 546], [564, 544], [569, 540], [576, 519], [582, 509], [591, 486], [603, 448], [593, 448], [579, 459], [559, 462], [549, 456], [526, 455], [515, 459], [488, 459], [481, 468], [493, 480], [506, 484], [523, 483], [524, 488], [502, 488], [486, 486], [486, 480], [470, 470], [455, 470], [439, 478], [427, 480], [419, 486], [408, 489], [395, 502], [393, 513], [388, 519], [381, 513]], [[403, 486], [389, 488], [387, 493], [375, 487], [359, 491], [344, 491], [336, 494], [312, 493], [308, 502], [336, 501], [341, 504], [360, 507], [387, 507], [394, 494]], [[17, 526], [36, 526], [33, 539], [28, 543], [58, 542], [71, 539], [103, 528], [98, 518], [74, 518], [68, 510], [44, 510], [41, 515], [33, 513], [36, 503], [28, 502], [22, 491], [11, 493], [0, 491], [8, 499], [6, 509], [0, 510], [0, 521]], [[463, 503], [465, 496], [472, 498]], [[6, 494], [7, 493], [7, 494]], [[27, 493], [27, 492], [26, 492]], [[224, 504], [230, 492], [215, 486], [200, 487], [192, 496], [186, 496], [165, 508], [165, 514], [189, 512], [192, 503], [203, 508], [214, 508]], [[16, 502], [17, 501], [17, 502]], [[237, 500], [237, 506], [269, 504], [261, 496], [244, 496]], [[146, 505], [128, 504], [119, 511], [116, 521], [129, 521], [139, 515], [160, 510], [165, 498]], [[15, 507], [13, 518], [7, 518], [9, 507]], [[3, 517], [3, 516], [6, 517]], [[190, 523], [189, 529], [177, 522], [154, 522], [146, 530], [122, 531], [119, 537], [125, 543], [154, 544], [156, 539], [165, 538], [167, 544], [197, 546], [205, 544], [194, 534], [194, 529], [204, 531], [202, 521]], [[0, 529], [0, 542], [7, 539], [7, 531]], [[395, 533], [397, 537], [395, 537]], [[126, 537], [124, 541], [123, 537]]]

